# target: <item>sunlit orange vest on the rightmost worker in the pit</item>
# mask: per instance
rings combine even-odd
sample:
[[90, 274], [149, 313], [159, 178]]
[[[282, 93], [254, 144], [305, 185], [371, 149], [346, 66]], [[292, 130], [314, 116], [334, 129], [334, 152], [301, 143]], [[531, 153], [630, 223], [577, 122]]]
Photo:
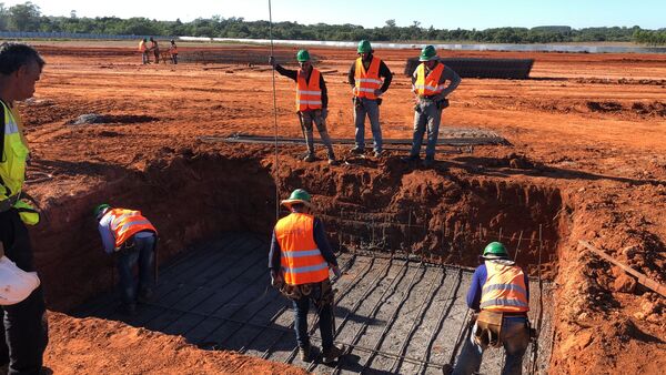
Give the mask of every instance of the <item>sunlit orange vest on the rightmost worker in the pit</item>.
[[525, 274], [517, 265], [486, 261], [487, 278], [482, 288], [481, 310], [497, 313], [529, 311]]

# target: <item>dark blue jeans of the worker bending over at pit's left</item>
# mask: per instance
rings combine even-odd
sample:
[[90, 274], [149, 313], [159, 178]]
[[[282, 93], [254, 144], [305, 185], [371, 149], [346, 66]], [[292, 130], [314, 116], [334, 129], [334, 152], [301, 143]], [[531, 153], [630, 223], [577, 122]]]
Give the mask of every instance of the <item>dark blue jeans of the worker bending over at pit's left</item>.
[[153, 259], [155, 247], [155, 236], [131, 237], [128, 241], [134, 241], [134, 247], [121, 250], [118, 252], [118, 275], [120, 278], [120, 296], [124, 304], [134, 304], [137, 302], [137, 287], [132, 267], [139, 263], [139, 291], [150, 293], [153, 288]]

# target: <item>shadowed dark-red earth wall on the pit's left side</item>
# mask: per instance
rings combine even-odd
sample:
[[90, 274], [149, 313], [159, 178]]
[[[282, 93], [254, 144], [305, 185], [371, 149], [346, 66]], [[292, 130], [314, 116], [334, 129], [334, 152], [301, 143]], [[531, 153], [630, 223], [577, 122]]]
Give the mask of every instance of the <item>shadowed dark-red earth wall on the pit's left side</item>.
[[270, 233], [274, 224], [275, 185], [258, 160], [185, 154], [122, 175], [43, 207], [31, 237], [49, 308], [67, 312], [111, 287], [113, 260], [92, 217], [100, 203], [139, 210], [155, 225], [160, 264], [221, 232]]

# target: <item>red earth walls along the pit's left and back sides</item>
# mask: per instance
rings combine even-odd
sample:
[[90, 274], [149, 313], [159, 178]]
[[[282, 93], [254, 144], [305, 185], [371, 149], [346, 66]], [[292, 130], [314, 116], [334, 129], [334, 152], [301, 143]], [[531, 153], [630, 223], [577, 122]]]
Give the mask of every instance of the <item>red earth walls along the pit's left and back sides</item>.
[[[380, 171], [302, 165], [276, 172], [281, 197], [296, 188], [313, 192], [335, 249], [365, 243], [373, 251], [402, 250], [476, 266], [481, 249], [500, 232], [513, 253], [523, 231], [518, 264], [534, 274], [541, 224], [544, 270], [556, 272], [556, 249], [568, 231], [557, 189], [460, 180], [403, 164]], [[145, 172], [110, 172], [110, 182], [51, 204], [44, 210], [48, 220], [32, 231], [49, 307], [68, 311], [112, 285], [112, 257], [102, 252], [92, 217], [97, 204], [142, 211], [160, 232], [158, 256], [164, 264], [222, 232], [256, 232], [268, 240], [275, 217], [273, 174], [271, 161], [255, 155], [184, 152], [153, 161]], [[371, 240], [374, 247], [367, 246]]]

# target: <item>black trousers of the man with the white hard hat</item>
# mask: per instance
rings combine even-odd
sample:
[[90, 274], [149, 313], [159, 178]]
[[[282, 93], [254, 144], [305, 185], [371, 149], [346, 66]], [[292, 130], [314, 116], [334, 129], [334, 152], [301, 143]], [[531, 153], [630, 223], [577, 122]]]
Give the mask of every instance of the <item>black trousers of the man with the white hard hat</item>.
[[[13, 209], [0, 213], [0, 240], [8, 259], [23, 271], [34, 271], [28, 229]], [[0, 364], [9, 362], [9, 374], [40, 373], [49, 343], [46, 311], [41, 286], [24, 301], [2, 306], [4, 330], [0, 330]]]

